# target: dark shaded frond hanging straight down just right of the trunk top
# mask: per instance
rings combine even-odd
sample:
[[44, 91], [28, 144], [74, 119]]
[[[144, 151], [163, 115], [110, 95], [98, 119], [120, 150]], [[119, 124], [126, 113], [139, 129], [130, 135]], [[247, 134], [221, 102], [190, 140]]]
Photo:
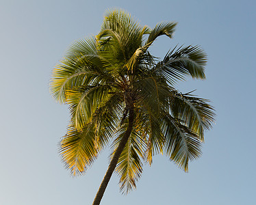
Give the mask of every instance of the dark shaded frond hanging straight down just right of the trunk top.
[[[150, 72], [148, 73], [150, 74]], [[142, 135], [146, 135], [146, 161], [151, 165], [153, 156], [162, 153], [164, 136], [160, 128], [159, 117], [170, 105], [170, 87], [159, 77], [145, 77], [134, 83], [136, 89], [136, 107], [140, 117]]]

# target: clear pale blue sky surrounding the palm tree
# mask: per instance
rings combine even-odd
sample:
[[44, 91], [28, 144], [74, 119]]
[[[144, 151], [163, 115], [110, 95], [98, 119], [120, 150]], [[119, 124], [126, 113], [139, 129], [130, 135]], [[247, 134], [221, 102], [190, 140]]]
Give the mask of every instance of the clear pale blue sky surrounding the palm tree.
[[174, 38], [159, 38], [151, 52], [164, 57], [176, 44], [201, 45], [207, 79], [188, 79], [177, 89], [196, 89], [217, 115], [188, 173], [155, 156], [128, 195], [114, 174], [101, 204], [253, 204], [255, 7], [253, 0], [0, 0], [0, 204], [92, 204], [110, 150], [84, 176], [70, 175], [58, 154], [69, 113], [51, 97], [49, 81], [72, 42], [97, 35], [109, 8], [123, 8], [149, 27], [178, 22]]

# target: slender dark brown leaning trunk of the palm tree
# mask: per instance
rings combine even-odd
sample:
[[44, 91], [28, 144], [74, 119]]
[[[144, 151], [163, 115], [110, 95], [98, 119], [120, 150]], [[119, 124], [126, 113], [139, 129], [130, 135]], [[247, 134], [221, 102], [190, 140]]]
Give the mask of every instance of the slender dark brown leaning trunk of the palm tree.
[[129, 121], [128, 121], [127, 131], [125, 132], [123, 139], [121, 139], [121, 141], [118, 145], [118, 148], [116, 149], [116, 152], [114, 153], [112, 161], [110, 162], [110, 165], [107, 168], [107, 172], [101, 182], [101, 186], [99, 187], [99, 190], [97, 192], [97, 195], [94, 198], [92, 205], [99, 205], [101, 203], [101, 199], [103, 197], [105, 189], [107, 188], [107, 184], [110, 181], [110, 178], [114, 172], [114, 169], [116, 168], [116, 164], [118, 163], [119, 156], [123, 152], [123, 149], [125, 148], [125, 144], [127, 143], [128, 139], [131, 135], [131, 131], [133, 128], [133, 121], [134, 121], [134, 113], [133, 113], [133, 108], [131, 108], [131, 109], [129, 109]]

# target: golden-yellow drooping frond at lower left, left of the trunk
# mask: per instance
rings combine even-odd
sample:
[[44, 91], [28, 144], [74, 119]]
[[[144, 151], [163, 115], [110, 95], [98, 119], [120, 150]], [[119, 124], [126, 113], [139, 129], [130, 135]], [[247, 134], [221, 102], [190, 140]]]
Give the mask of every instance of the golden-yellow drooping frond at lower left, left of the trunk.
[[115, 94], [94, 112], [92, 120], [81, 131], [72, 125], [68, 128], [61, 141], [60, 154], [73, 175], [84, 173], [108, 145], [116, 133], [122, 111], [122, 98]]

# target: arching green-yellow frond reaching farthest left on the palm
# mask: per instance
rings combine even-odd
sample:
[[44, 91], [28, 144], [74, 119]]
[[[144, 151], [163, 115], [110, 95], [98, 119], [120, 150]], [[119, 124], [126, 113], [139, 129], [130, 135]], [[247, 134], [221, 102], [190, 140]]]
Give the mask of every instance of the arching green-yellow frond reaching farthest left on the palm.
[[[81, 44], [79, 49], [85, 50], [83, 55], [69, 54], [71, 57], [63, 59], [61, 64], [53, 70], [50, 87], [57, 102], [66, 101], [67, 90], [77, 89], [81, 85], [90, 85], [92, 82], [113, 81], [112, 76], [102, 69], [101, 61], [95, 55], [94, 49], [86, 47], [86, 42]], [[92, 52], [94, 57], [86, 58], [86, 52], [88, 55]]]

